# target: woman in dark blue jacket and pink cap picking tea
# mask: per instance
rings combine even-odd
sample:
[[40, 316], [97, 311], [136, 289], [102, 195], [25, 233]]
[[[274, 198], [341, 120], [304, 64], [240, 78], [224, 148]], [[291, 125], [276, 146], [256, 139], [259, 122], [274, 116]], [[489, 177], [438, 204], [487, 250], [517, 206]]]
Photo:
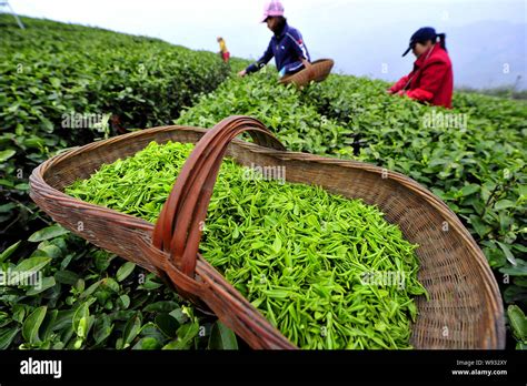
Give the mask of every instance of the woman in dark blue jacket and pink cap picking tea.
[[309, 52], [300, 31], [290, 27], [284, 17], [284, 6], [275, 0], [266, 4], [261, 22], [275, 33], [264, 55], [247, 69], [238, 72], [239, 77], [257, 72], [275, 57], [280, 77], [302, 70], [310, 61]]

